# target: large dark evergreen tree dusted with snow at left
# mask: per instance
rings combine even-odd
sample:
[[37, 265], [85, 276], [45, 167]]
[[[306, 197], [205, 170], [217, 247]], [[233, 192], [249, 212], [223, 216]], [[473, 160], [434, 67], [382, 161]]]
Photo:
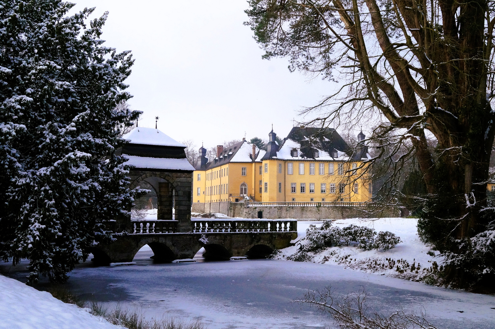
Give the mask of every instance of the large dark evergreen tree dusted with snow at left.
[[94, 8], [73, 5], [0, 1], [0, 255], [28, 258], [30, 282], [67, 280], [139, 194], [115, 155], [141, 113], [116, 109], [131, 53], [103, 46], [106, 13], [86, 26]]

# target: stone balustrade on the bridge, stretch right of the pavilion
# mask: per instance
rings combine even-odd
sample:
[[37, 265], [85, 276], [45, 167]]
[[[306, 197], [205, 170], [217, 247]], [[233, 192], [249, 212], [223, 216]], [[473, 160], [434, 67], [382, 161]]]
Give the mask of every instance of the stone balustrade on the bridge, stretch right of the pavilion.
[[207, 232], [297, 232], [297, 220], [191, 219], [194, 233]]

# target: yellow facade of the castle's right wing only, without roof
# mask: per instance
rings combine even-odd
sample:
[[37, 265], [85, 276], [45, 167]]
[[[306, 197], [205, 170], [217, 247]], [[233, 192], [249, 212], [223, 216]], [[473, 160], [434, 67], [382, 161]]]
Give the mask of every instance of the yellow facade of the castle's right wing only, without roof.
[[[333, 165], [333, 174], [329, 165]], [[339, 174], [339, 164], [343, 166]], [[311, 160], [263, 160], [263, 202], [367, 202], [371, 183], [361, 162]], [[290, 167], [292, 166], [292, 170]], [[322, 166], [322, 170], [320, 170]], [[291, 174], [292, 172], [292, 174]], [[361, 177], [362, 176], [362, 177]], [[357, 186], [355, 185], [357, 184]], [[342, 186], [342, 189], [341, 189]]]

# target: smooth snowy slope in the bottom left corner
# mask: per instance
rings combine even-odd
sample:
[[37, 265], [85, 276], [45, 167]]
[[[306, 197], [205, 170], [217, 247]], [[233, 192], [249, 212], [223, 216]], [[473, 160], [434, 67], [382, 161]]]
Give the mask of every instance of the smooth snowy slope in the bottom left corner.
[[5, 329], [122, 329], [85, 309], [66, 304], [0, 275], [0, 328]]

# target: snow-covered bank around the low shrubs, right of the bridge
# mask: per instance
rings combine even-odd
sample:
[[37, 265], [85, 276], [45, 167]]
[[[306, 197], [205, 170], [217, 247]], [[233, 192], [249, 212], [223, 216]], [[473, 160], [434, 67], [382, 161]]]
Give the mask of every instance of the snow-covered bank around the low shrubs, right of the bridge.
[[[306, 235], [306, 229], [313, 224], [319, 227], [323, 221], [298, 221], [297, 222], [297, 241], [300, 241]], [[433, 262], [438, 266], [442, 264], [442, 259], [428, 255], [430, 248], [425, 245], [417, 234], [417, 219], [415, 218], [381, 218], [381, 219], [340, 219], [333, 222], [334, 226], [341, 228], [351, 224], [366, 226], [375, 229], [376, 232], [390, 231], [400, 237], [399, 244], [395, 248], [384, 250], [363, 250], [353, 246], [331, 247], [317, 253], [309, 253], [314, 256], [313, 260], [317, 263], [340, 264], [355, 270], [365, 272], [375, 272], [385, 274], [386, 276], [398, 277], [408, 280], [418, 280], [427, 274], [424, 269], [430, 269]], [[301, 241], [300, 243], [304, 243]], [[294, 254], [299, 247], [295, 246], [282, 249], [279, 259]], [[438, 252], [437, 252], [438, 254]], [[418, 273], [410, 271], [411, 266], [415, 264], [420, 267]], [[397, 272], [404, 270], [403, 273]], [[390, 268], [392, 267], [392, 269]]]

